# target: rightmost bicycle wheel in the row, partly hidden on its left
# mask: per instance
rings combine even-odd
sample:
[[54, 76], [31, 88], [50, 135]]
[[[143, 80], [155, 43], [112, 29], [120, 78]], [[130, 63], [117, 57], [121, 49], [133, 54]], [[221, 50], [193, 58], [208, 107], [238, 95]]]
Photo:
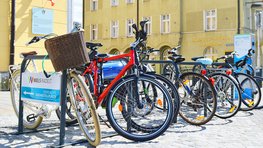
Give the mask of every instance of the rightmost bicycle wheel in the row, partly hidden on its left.
[[249, 111], [256, 108], [261, 100], [261, 91], [256, 80], [244, 73], [236, 73], [235, 78], [238, 80], [241, 90], [240, 110]]

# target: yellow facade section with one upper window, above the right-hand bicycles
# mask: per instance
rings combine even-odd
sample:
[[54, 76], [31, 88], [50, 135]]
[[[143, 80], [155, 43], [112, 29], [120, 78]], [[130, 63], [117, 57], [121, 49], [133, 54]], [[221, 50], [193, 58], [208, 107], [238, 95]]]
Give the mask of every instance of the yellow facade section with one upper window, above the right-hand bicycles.
[[[210, 57], [222, 56], [234, 50], [234, 35], [238, 30], [236, 0], [183, 0], [182, 3], [181, 54], [187, 55], [190, 60], [191, 57], [205, 54]], [[214, 13], [215, 26], [210, 25], [212, 28], [207, 29], [205, 17], [209, 11]], [[205, 49], [208, 49], [208, 53]]]

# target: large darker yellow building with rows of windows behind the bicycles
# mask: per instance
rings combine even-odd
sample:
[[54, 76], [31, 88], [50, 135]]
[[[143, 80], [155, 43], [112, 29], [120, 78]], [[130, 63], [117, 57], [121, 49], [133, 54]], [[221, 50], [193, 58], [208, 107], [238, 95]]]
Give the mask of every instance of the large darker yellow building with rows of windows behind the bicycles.
[[[130, 19], [136, 23], [136, 2], [86, 1], [86, 38], [101, 42], [104, 45], [101, 52], [126, 52], [134, 41], [134, 37], [127, 34], [127, 28]], [[139, 0], [139, 20], [150, 18], [147, 45], [161, 49], [160, 59], [166, 59], [166, 49], [178, 44], [182, 46], [179, 52], [188, 61], [194, 56], [215, 58], [234, 50], [234, 36], [237, 33], [255, 32], [248, 32], [246, 28], [252, 27], [253, 14], [249, 12], [251, 6], [257, 3], [255, 0]], [[258, 5], [262, 7], [262, 4], [259, 2]], [[167, 24], [169, 29], [163, 32], [163, 26]], [[112, 36], [116, 28], [118, 35]]]

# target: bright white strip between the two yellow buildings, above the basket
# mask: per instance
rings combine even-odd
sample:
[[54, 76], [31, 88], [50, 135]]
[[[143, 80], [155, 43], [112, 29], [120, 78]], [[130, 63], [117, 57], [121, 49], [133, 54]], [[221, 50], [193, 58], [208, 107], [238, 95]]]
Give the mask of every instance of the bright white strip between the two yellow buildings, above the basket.
[[68, 32], [74, 24], [79, 23], [83, 28], [83, 0], [68, 0]]

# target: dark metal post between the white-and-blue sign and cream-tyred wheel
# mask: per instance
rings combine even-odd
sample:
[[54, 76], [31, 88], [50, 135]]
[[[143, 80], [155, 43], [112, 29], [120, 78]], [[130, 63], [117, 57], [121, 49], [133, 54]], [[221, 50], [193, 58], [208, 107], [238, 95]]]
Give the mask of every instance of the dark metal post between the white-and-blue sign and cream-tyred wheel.
[[63, 70], [60, 92], [61, 117], [60, 117], [60, 134], [59, 145], [65, 143], [65, 126], [66, 126], [66, 97], [67, 97], [67, 70]]

